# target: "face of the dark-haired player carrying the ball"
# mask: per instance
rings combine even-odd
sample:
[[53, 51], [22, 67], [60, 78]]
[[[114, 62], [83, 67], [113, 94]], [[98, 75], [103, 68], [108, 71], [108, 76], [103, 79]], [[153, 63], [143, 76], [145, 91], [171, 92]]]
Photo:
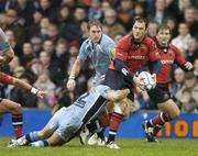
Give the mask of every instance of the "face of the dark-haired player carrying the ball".
[[132, 27], [133, 37], [136, 41], [140, 41], [144, 37], [145, 33], [146, 33], [145, 23], [143, 23], [143, 22], [140, 23], [136, 21]]

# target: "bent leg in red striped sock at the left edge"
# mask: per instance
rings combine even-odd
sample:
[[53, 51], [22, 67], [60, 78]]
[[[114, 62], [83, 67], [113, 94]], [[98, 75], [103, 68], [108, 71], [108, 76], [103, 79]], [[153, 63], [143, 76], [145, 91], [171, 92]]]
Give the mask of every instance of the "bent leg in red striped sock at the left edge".
[[12, 114], [12, 125], [14, 127], [15, 137], [22, 136], [23, 116], [21, 104], [8, 99], [0, 99], [0, 113]]

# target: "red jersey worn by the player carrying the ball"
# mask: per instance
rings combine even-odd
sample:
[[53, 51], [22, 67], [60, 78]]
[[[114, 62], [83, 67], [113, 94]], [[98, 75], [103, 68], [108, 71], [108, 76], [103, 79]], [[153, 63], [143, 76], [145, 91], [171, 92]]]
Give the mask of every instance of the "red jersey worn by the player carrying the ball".
[[[135, 74], [142, 65], [160, 59], [158, 49], [154, 41], [145, 36], [136, 45], [132, 43], [132, 36], [123, 36], [116, 47], [114, 58], [121, 59], [132, 74]], [[116, 69], [111, 64], [110, 69]]]

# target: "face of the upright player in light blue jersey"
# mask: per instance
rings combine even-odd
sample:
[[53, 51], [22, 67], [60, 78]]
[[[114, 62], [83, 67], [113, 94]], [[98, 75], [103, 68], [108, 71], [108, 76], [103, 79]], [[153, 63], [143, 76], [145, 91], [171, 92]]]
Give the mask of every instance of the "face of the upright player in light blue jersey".
[[94, 43], [97, 43], [100, 41], [101, 34], [102, 34], [102, 31], [100, 26], [94, 25], [89, 30], [89, 37]]

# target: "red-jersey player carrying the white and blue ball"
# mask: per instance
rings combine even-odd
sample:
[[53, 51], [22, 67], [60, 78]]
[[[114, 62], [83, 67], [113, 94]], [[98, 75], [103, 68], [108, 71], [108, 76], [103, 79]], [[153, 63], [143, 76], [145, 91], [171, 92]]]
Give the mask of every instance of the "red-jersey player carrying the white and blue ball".
[[[117, 45], [113, 64], [106, 75], [106, 85], [111, 89], [129, 88], [129, 99], [134, 101], [134, 86], [144, 90], [143, 79], [135, 76], [142, 66], [150, 65], [151, 74], [156, 80], [156, 74], [161, 70], [161, 60], [155, 42], [146, 35], [147, 23], [143, 18], [134, 19], [132, 34], [123, 36]], [[119, 148], [114, 143], [117, 131], [123, 119], [123, 111], [116, 104], [110, 118], [110, 130], [107, 147]]]

